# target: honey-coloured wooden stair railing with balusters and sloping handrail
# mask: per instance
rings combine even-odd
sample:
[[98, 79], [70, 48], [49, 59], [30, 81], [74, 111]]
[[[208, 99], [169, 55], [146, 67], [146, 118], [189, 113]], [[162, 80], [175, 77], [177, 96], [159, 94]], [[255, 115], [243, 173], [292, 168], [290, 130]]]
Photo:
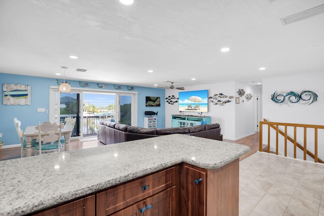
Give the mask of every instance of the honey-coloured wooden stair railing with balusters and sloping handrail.
[[[317, 157], [317, 131], [318, 129], [324, 129], [324, 125], [315, 125], [315, 124], [298, 124], [298, 123], [280, 123], [280, 122], [269, 122], [265, 118], [264, 121], [260, 121], [260, 136], [259, 136], [259, 151], [262, 152], [262, 135], [263, 135], [263, 124], [268, 125], [268, 148], [267, 152], [270, 153], [270, 127], [276, 130], [276, 151], [275, 154], [278, 155], [278, 134], [285, 137], [285, 157], [287, 157], [287, 140], [294, 144], [294, 158], [296, 158], [297, 147], [304, 152], [304, 160], [306, 160], [306, 154], [314, 158], [315, 162], [324, 163], [323, 160]], [[280, 126], [285, 126], [285, 132], [279, 129]], [[294, 138], [288, 136], [287, 127], [294, 127]], [[297, 142], [297, 127], [304, 127], [304, 146]], [[314, 154], [307, 150], [307, 128], [314, 128]]]

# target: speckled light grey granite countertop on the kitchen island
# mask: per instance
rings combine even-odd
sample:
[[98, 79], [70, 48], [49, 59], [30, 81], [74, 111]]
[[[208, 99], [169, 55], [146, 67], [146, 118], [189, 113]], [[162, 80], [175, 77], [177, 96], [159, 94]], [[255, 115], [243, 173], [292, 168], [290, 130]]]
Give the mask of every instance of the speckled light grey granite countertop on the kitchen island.
[[219, 168], [245, 145], [167, 135], [0, 161], [0, 215], [23, 215], [186, 162]]

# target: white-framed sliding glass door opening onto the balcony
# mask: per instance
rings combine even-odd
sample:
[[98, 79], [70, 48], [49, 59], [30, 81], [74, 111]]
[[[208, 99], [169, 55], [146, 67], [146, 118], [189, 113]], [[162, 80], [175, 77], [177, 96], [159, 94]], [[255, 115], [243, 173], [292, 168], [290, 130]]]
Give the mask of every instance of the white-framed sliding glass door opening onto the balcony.
[[49, 110], [51, 122], [76, 118], [72, 137], [94, 137], [101, 120], [137, 126], [137, 93], [80, 88], [59, 93], [57, 87], [51, 87]]

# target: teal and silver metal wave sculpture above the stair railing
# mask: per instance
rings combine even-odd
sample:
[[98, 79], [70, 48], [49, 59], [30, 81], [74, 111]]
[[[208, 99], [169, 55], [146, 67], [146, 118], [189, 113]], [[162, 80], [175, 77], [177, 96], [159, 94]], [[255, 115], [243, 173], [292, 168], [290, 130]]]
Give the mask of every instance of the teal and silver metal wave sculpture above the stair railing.
[[275, 91], [271, 95], [271, 100], [277, 104], [282, 104], [285, 102], [285, 100], [288, 100], [290, 103], [298, 103], [300, 101], [309, 101], [308, 105], [314, 103], [317, 101], [318, 95], [314, 93], [313, 91], [303, 91], [302, 93], [298, 94], [297, 92], [288, 92], [285, 95], [280, 94], [277, 91]]

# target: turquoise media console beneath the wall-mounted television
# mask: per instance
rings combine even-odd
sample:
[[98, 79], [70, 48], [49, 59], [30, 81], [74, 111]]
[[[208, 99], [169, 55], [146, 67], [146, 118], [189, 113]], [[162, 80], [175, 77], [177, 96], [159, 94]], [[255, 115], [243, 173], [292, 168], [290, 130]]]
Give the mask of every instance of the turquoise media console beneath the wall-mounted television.
[[210, 116], [194, 116], [194, 115], [172, 115], [171, 127], [190, 127], [201, 124], [201, 121], [211, 123]]

